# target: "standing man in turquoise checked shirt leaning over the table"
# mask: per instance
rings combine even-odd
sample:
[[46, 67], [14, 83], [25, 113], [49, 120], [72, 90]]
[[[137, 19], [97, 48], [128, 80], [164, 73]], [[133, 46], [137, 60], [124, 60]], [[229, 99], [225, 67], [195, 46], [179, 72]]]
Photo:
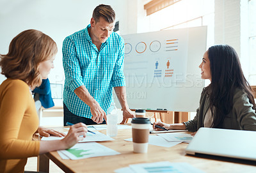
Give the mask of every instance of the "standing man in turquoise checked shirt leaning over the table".
[[123, 109], [122, 123], [134, 117], [126, 100], [124, 40], [114, 27], [115, 11], [100, 4], [90, 24], [63, 41], [64, 125], [105, 123], [113, 87]]

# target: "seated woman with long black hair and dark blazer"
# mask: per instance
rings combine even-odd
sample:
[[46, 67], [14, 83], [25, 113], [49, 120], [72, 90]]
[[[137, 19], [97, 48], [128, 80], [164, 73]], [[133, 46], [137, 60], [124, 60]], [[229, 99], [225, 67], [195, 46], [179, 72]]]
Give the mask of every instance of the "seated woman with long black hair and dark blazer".
[[[202, 57], [201, 78], [211, 84], [204, 87], [196, 116], [184, 123], [156, 125], [168, 130], [196, 132], [200, 127], [256, 131], [256, 104], [252, 87], [244, 77], [236, 50], [228, 45], [214, 45]], [[195, 135], [195, 133], [193, 133]]]

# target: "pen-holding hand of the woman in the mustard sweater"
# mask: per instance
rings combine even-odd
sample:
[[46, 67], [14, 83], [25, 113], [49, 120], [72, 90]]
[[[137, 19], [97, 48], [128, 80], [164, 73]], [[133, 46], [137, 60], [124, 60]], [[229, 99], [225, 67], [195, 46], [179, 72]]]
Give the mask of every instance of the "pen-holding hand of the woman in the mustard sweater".
[[70, 126], [67, 136], [61, 140], [64, 142], [65, 148], [68, 149], [74, 146], [79, 140], [83, 140], [87, 132], [86, 124], [77, 123]]

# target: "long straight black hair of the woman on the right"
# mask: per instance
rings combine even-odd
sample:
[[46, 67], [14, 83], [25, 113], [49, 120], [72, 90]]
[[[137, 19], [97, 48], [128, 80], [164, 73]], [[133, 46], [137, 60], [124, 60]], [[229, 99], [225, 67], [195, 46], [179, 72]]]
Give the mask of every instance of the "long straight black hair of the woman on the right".
[[209, 94], [210, 109], [213, 112], [212, 127], [218, 128], [225, 116], [232, 110], [235, 89], [247, 94], [255, 110], [253, 91], [243, 75], [236, 50], [229, 45], [214, 45], [208, 49], [211, 66], [211, 84], [205, 89]]

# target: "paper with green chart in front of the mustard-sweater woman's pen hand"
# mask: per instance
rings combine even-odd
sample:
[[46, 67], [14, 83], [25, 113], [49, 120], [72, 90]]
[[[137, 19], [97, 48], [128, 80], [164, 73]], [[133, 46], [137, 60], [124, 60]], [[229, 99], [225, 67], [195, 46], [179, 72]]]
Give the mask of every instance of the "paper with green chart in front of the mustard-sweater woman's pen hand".
[[71, 160], [120, 154], [113, 149], [98, 144], [97, 142], [79, 143], [70, 149], [60, 150], [57, 152], [60, 154], [62, 159]]

